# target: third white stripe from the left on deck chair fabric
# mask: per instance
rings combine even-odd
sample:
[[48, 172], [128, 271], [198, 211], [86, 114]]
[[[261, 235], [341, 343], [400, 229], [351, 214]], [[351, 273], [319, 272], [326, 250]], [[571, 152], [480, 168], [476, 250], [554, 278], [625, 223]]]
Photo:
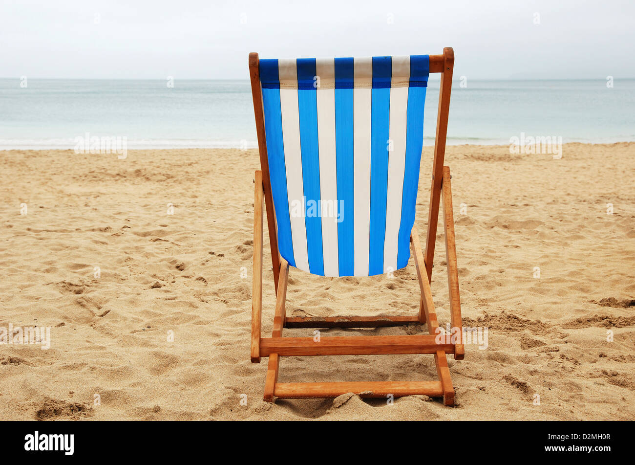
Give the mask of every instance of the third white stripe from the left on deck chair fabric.
[[[372, 89], [366, 84], [373, 76], [371, 58], [355, 58], [353, 89], [354, 225], [355, 276], [368, 276], [370, 250], [370, 130]], [[358, 88], [364, 86], [364, 88]]]

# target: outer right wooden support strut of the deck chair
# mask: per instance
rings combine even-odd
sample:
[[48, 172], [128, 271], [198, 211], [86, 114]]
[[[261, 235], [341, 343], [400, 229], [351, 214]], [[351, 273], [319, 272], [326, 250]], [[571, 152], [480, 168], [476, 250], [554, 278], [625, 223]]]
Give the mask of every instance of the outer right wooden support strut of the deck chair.
[[454, 353], [455, 360], [463, 360], [463, 324], [461, 322], [461, 299], [458, 295], [457, 246], [454, 235], [454, 216], [452, 212], [452, 189], [450, 168], [443, 166], [443, 229], [445, 231], [445, 258], [448, 264], [448, 288], [450, 291], [450, 318], [452, 332], [457, 334], [458, 343]]

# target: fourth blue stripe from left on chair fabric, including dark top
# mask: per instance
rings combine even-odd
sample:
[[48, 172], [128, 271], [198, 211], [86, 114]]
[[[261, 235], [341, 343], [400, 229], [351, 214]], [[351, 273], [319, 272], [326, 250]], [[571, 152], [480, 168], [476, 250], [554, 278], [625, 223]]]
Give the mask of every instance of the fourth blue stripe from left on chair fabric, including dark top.
[[[387, 60], [385, 58], [388, 58]], [[388, 139], [392, 75], [391, 57], [373, 57], [370, 135], [370, 251], [368, 274], [384, 273], [386, 198], [388, 193]], [[388, 77], [388, 86], [385, 80]]]

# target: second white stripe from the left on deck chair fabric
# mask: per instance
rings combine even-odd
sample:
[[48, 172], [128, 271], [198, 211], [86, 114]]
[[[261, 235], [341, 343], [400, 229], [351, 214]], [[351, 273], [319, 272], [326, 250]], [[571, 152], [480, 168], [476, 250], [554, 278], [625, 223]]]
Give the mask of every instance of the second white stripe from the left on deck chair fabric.
[[318, 95], [319, 187], [322, 215], [324, 276], [339, 276], [337, 250], [337, 168], [335, 162], [335, 90], [323, 89], [335, 81], [335, 59], [316, 60]]

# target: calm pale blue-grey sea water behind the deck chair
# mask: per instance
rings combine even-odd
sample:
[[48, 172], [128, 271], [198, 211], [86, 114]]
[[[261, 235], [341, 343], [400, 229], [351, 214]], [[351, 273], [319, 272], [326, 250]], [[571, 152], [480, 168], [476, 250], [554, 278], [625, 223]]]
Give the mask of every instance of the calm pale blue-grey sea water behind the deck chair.
[[[255, 147], [248, 81], [0, 79], [0, 149], [73, 148], [76, 137], [126, 137], [128, 149]], [[635, 140], [635, 79], [455, 79], [448, 144]], [[439, 81], [429, 83], [424, 145], [434, 144]]]

